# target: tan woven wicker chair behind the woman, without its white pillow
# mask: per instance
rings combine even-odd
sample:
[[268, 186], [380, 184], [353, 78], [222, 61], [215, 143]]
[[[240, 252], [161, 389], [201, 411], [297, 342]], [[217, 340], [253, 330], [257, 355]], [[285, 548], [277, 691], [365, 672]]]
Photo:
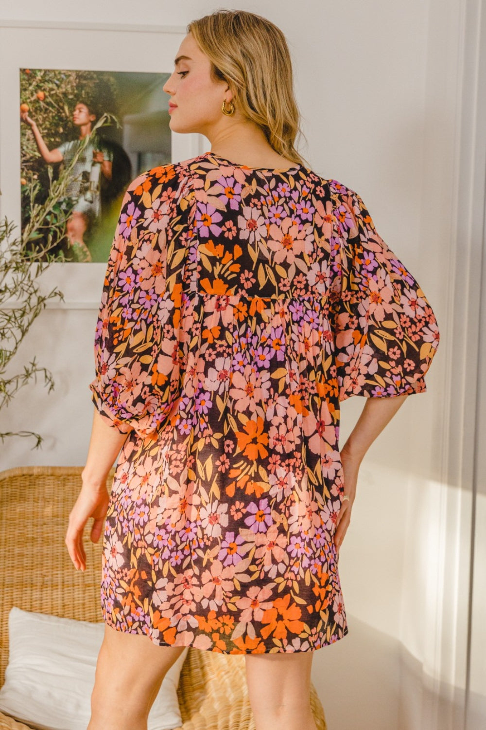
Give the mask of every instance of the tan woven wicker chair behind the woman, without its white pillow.
[[[8, 615], [26, 611], [101, 621], [101, 540], [85, 538], [87, 569], [74, 570], [64, 544], [81, 468], [34, 466], [0, 472], [0, 686], [8, 661]], [[86, 530], [87, 532], [87, 530]], [[182, 730], [254, 730], [245, 658], [189, 648], [181, 671]], [[318, 730], [326, 730], [311, 686]], [[0, 712], [0, 730], [31, 730]]]

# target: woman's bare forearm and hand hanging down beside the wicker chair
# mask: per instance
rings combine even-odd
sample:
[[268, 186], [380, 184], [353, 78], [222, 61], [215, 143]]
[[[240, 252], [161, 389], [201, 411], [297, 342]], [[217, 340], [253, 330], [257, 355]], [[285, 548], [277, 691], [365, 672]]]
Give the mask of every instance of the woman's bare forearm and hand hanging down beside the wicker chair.
[[128, 434], [121, 434], [95, 410], [90, 447], [82, 471], [82, 488], [69, 515], [66, 545], [74, 567], [86, 569], [86, 553], [82, 535], [89, 518], [93, 518], [90, 538], [98, 542], [106, 517], [109, 493], [106, 479]]

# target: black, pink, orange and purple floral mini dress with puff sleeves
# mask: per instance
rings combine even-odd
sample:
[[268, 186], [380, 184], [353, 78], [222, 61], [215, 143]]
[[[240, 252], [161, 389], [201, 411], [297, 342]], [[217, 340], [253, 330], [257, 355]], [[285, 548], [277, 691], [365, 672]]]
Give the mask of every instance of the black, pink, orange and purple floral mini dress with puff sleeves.
[[90, 385], [127, 434], [106, 623], [222, 653], [342, 638], [340, 401], [422, 393], [438, 343], [415, 278], [336, 180], [213, 153], [134, 180]]

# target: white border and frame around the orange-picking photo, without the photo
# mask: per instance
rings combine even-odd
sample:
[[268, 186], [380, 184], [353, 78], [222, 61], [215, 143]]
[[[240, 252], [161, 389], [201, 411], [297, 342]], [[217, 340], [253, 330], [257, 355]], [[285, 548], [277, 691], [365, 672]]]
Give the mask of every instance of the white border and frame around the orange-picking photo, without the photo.
[[[20, 69], [77, 69], [107, 72], [171, 73], [186, 29], [178, 26], [130, 28], [79, 23], [0, 23], [0, 216], [20, 228]], [[167, 98], [168, 101], [168, 98]], [[171, 134], [172, 161], [209, 149], [197, 134]], [[64, 301], [49, 307], [99, 306], [106, 264], [52, 264], [44, 286], [60, 288]]]

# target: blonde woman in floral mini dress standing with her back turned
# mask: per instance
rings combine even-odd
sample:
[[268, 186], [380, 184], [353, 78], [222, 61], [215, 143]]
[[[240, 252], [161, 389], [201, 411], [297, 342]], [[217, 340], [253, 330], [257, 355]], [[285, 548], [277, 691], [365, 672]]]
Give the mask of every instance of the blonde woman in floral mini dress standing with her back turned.
[[[93, 518], [98, 540], [106, 517], [89, 730], [146, 728], [186, 645], [245, 653], [258, 730], [311, 730], [313, 650], [347, 633], [337, 556], [358, 468], [425, 391], [439, 333], [361, 198], [295, 150], [278, 28], [196, 20], [164, 88], [171, 129], [211, 152], [130, 184], [109, 261], [66, 536], [85, 569], [82, 531]], [[367, 401], [339, 451], [353, 394]]]

